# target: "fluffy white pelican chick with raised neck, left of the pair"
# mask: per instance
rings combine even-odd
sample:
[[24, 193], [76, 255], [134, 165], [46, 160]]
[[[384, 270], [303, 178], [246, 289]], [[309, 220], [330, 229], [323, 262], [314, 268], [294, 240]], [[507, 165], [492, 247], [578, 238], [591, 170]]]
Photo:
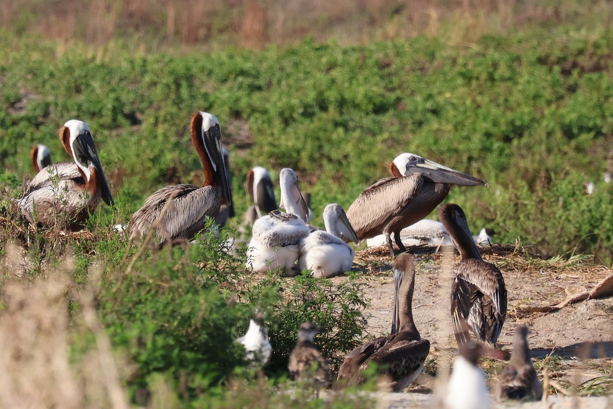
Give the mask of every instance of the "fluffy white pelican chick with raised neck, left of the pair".
[[257, 273], [281, 267], [286, 275], [300, 271], [295, 266], [300, 251], [300, 240], [310, 234], [305, 224], [307, 205], [298, 188], [294, 170], [285, 168], [280, 173], [281, 202], [287, 213], [273, 210], [253, 224], [253, 237], [247, 248], [249, 269]]

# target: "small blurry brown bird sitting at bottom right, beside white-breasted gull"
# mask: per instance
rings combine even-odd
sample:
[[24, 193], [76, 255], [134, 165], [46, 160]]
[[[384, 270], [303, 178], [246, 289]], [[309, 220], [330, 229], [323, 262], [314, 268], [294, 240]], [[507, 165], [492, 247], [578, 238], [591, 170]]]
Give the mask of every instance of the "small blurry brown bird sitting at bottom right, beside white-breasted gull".
[[535, 367], [530, 361], [527, 337], [528, 328], [525, 325], [515, 328], [515, 345], [511, 359], [498, 377], [496, 388], [498, 400], [541, 400], [543, 397], [543, 386], [536, 378]]

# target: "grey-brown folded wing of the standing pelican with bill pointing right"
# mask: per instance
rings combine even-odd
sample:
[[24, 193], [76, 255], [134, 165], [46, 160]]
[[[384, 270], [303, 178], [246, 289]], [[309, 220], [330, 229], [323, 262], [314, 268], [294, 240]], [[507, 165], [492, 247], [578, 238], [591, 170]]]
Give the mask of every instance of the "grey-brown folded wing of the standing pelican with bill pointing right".
[[421, 174], [388, 177], [368, 186], [349, 206], [347, 218], [360, 239], [375, 237], [398, 210], [405, 208], [417, 196], [424, 184]]

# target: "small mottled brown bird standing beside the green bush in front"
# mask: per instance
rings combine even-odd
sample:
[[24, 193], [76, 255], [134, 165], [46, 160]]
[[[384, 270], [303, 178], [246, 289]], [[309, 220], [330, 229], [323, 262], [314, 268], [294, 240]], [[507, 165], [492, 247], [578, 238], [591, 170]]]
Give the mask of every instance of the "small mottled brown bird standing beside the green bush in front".
[[292, 380], [310, 380], [319, 396], [319, 389], [326, 388], [330, 372], [328, 361], [313, 343], [313, 337], [321, 328], [303, 323], [298, 329], [298, 342], [289, 355], [289, 377]]

